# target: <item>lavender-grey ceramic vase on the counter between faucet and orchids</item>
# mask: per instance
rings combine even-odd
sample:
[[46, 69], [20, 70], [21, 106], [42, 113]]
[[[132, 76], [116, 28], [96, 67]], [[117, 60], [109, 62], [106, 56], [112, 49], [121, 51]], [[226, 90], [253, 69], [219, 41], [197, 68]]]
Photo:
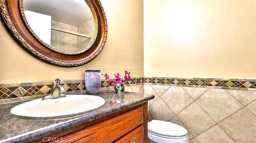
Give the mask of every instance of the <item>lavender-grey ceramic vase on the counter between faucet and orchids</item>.
[[96, 94], [100, 90], [100, 70], [85, 71], [85, 88], [88, 93]]

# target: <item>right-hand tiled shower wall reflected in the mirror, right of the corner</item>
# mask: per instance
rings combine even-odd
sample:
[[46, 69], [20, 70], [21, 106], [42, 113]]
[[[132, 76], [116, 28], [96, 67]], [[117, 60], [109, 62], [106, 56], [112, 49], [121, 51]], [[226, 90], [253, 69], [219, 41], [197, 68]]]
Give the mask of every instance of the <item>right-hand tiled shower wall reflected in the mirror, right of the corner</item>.
[[[85, 33], [86, 35], [93, 36], [94, 34], [94, 19], [92, 18], [91, 20], [84, 22], [80, 26], [77, 27], [77, 32], [78, 33]], [[90, 43], [90, 38], [85, 38], [85, 37], [80, 37], [78, 36], [77, 38], [77, 49], [78, 51], [84, 49], [89, 45]]]

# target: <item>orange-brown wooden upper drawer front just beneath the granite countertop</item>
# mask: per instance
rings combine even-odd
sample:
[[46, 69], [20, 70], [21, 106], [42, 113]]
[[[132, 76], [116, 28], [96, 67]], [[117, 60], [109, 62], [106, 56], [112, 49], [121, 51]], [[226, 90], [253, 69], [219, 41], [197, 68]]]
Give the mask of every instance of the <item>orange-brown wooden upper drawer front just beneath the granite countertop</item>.
[[110, 143], [143, 124], [143, 106], [62, 138], [62, 143]]

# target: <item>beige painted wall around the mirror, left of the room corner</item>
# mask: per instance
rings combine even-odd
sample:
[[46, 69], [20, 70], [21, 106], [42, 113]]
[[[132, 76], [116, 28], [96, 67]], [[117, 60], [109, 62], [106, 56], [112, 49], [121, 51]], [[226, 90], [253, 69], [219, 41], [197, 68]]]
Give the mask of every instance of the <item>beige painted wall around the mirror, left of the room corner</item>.
[[0, 24], [0, 83], [84, 79], [85, 70], [143, 76], [143, 1], [101, 0], [108, 22], [106, 45], [92, 62], [73, 68], [56, 67], [32, 57]]

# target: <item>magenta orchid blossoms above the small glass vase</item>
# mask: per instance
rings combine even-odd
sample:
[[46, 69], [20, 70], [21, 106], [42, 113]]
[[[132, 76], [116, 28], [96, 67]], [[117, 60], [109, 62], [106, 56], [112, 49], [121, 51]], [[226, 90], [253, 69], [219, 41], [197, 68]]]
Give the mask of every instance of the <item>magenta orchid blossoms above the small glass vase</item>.
[[129, 69], [128, 71], [124, 71], [124, 73], [125, 73], [124, 80], [121, 79], [121, 76], [118, 73], [114, 74], [114, 76], [115, 76], [114, 79], [110, 79], [109, 74], [107, 74], [107, 72], [105, 70], [103, 70], [103, 71], [105, 72], [105, 74], [101, 74], [101, 75], [103, 75], [106, 78], [106, 80], [109, 80], [110, 86], [113, 84], [114, 88], [116, 88], [116, 84], [118, 84], [118, 83], [123, 83], [125, 81], [132, 80], [132, 77], [130, 76], [131, 69]]

